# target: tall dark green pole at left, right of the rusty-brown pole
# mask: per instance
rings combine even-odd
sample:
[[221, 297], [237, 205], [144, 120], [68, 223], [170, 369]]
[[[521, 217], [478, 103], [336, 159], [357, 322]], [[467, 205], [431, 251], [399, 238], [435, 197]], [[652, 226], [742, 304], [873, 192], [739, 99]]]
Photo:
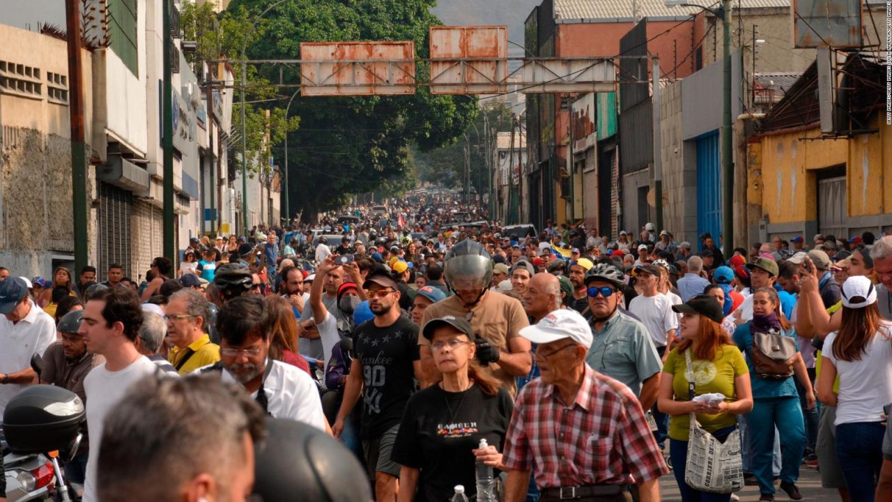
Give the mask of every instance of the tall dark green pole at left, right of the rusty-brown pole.
[[[161, 94], [161, 122], [164, 136], [164, 240], [163, 255], [167, 256], [170, 263], [177, 263], [177, 244], [173, 234], [173, 96], [171, 92], [173, 39], [170, 36], [170, 1], [161, 0], [161, 18], [163, 26], [161, 37], [163, 40], [164, 88]], [[179, 63], [179, 62], [178, 62]]]

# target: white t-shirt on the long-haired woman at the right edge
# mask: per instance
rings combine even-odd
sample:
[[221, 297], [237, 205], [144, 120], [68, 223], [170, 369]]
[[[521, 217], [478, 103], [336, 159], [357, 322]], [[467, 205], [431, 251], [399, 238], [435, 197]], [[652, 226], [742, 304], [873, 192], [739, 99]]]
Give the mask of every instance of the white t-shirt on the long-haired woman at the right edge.
[[883, 406], [892, 403], [892, 323], [884, 322], [868, 342], [861, 361], [842, 361], [833, 356], [838, 333], [824, 339], [821, 355], [829, 359], [839, 375], [837, 417], [834, 425], [882, 422]]

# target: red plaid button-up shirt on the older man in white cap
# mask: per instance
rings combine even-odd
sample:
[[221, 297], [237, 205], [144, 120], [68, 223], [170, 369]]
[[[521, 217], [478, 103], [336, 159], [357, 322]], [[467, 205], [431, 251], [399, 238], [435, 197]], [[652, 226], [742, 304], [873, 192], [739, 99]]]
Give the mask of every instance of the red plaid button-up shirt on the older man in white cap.
[[508, 469], [533, 469], [540, 488], [632, 484], [669, 472], [638, 399], [588, 364], [570, 406], [541, 379], [524, 386], [503, 462]]

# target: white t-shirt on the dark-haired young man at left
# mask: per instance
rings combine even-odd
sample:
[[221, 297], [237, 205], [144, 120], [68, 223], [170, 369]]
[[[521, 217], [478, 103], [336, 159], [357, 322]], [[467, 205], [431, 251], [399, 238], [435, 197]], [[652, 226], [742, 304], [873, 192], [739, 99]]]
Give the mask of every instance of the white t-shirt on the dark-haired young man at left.
[[[105, 415], [111, 412], [135, 381], [158, 372], [157, 366], [142, 356], [128, 367], [117, 372], [96, 366], [84, 379], [87, 392], [87, 426], [90, 428], [90, 451], [87, 458], [87, 482], [84, 485], [84, 502], [96, 500], [96, 463], [99, 462], [100, 441], [103, 439]], [[165, 372], [165, 376], [169, 373]]]

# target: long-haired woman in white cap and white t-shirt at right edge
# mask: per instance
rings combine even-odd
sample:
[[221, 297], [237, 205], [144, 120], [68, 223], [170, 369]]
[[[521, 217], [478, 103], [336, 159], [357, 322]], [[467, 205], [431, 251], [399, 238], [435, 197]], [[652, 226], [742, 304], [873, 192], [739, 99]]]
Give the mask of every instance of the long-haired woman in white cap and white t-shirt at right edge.
[[[865, 276], [842, 286], [842, 323], [827, 335], [818, 380], [821, 402], [836, 406], [836, 455], [852, 500], [871, 502], [883, 463], [883, 406], [892, 403], [892, 322], [880, 317]], [[839, 377], [838, 393], [833, 391]]]

